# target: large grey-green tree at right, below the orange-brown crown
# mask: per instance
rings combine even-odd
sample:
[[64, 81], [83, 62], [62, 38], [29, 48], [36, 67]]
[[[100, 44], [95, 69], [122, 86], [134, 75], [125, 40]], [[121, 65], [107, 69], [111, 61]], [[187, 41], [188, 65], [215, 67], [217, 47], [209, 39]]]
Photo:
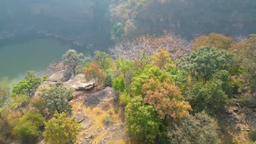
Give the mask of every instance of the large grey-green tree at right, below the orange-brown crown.
[[177, 66], [188, 71], [194, 80], [208, 81], [214, 73], [229, 70], [233, 62], [232, 53], [215, 47], [203, 46], [176, 61]]

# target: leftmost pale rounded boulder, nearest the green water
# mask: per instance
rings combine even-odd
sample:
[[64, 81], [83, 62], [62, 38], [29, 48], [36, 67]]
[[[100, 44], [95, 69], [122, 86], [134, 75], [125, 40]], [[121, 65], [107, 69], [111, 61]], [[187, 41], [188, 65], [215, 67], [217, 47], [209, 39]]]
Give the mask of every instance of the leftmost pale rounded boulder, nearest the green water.
[[54, 73], [51, 75], [46, 81], [51, 81], [51, 82], [57, 82], [57, 81], [68, 81], [71, 78], [72, 74], [69, 73], [66, 70], [58, 71], [57, 73]]

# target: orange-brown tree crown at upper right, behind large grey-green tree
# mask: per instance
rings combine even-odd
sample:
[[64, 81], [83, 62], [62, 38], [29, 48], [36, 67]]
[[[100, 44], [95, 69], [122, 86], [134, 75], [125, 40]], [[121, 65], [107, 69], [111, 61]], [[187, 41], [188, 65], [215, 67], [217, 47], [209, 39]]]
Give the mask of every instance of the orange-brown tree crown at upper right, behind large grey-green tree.
[[228, 50], [232, 46], [233, 40], [231, 37], [225, 37], [223, 34], [210, 33], [208, 36], [202, 35], [193, 43], [193, 50], [201, 46], [217, 47], [221, 50]]

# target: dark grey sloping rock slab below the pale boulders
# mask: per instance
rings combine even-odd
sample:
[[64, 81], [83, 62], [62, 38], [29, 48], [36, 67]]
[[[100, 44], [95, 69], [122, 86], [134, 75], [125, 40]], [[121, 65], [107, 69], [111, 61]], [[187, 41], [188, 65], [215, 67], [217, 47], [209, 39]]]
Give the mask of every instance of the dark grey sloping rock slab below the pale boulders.
[[103, 104], [109, 101], [112, 101], [117, 98], [117, 93], [113, 88], [107, 87], [100, 92], [90, 94], [84, 99], [84, 105], [98, 105]]

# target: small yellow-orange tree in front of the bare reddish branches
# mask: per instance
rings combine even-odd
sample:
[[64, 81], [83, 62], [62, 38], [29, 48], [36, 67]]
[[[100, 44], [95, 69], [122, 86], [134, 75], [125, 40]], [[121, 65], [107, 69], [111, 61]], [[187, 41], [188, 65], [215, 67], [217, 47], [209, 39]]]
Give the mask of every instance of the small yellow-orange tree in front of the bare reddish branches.
[[154, 53], [151, 56], [152, 64], [156, 65], [160, 69], [164, 69], [168, 62], [171, 62], [170, 53], [168, 51], [164, 51], [162, 49], [159, 50], [158, 53]]

